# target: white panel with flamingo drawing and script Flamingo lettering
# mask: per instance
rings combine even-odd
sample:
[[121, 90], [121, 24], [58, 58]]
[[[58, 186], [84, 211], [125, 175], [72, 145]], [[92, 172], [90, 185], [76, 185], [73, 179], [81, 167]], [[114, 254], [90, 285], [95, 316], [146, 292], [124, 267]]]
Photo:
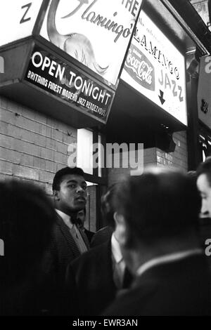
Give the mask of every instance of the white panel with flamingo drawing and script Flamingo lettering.
[[115, 86], [142, 0], [51, 0], [40, 35]]

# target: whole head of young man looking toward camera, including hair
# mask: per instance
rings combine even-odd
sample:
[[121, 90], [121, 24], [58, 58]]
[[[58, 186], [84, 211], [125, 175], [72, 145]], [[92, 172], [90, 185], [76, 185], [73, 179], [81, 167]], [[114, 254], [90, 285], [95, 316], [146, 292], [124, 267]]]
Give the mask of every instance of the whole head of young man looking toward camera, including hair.
[[84, 209], [87, 203], [84, 171], [78, 167], [60, 169], [53, 178], [53, 198], [56, 209], [68, 215]]

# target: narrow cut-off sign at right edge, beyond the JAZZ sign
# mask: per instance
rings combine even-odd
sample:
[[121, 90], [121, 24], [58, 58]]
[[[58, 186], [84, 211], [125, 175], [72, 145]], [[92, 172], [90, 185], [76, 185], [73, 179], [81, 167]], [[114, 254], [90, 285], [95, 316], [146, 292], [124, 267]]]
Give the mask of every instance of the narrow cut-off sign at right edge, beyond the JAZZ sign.
[[211, 128], [211, 56], [200, 58], [198, 79], [198, 118]]

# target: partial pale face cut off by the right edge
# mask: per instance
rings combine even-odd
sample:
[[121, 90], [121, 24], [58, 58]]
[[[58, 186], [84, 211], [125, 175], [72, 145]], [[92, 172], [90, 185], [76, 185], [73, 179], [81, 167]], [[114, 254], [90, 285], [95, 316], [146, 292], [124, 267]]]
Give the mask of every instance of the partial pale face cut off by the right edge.
[[201, 216], [211, 218], [211, 187], [206, 174], [200, 174], [197, 179], [197, 187], [202, 198]]

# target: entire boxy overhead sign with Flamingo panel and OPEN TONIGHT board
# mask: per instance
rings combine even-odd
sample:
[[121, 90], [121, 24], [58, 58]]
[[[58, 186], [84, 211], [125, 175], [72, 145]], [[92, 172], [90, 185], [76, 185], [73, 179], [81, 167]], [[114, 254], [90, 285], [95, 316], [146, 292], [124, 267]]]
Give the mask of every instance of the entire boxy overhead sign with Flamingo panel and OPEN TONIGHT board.
[[143, 0], [1, 2], [0, 95], [76, 128], [106, 124]]

